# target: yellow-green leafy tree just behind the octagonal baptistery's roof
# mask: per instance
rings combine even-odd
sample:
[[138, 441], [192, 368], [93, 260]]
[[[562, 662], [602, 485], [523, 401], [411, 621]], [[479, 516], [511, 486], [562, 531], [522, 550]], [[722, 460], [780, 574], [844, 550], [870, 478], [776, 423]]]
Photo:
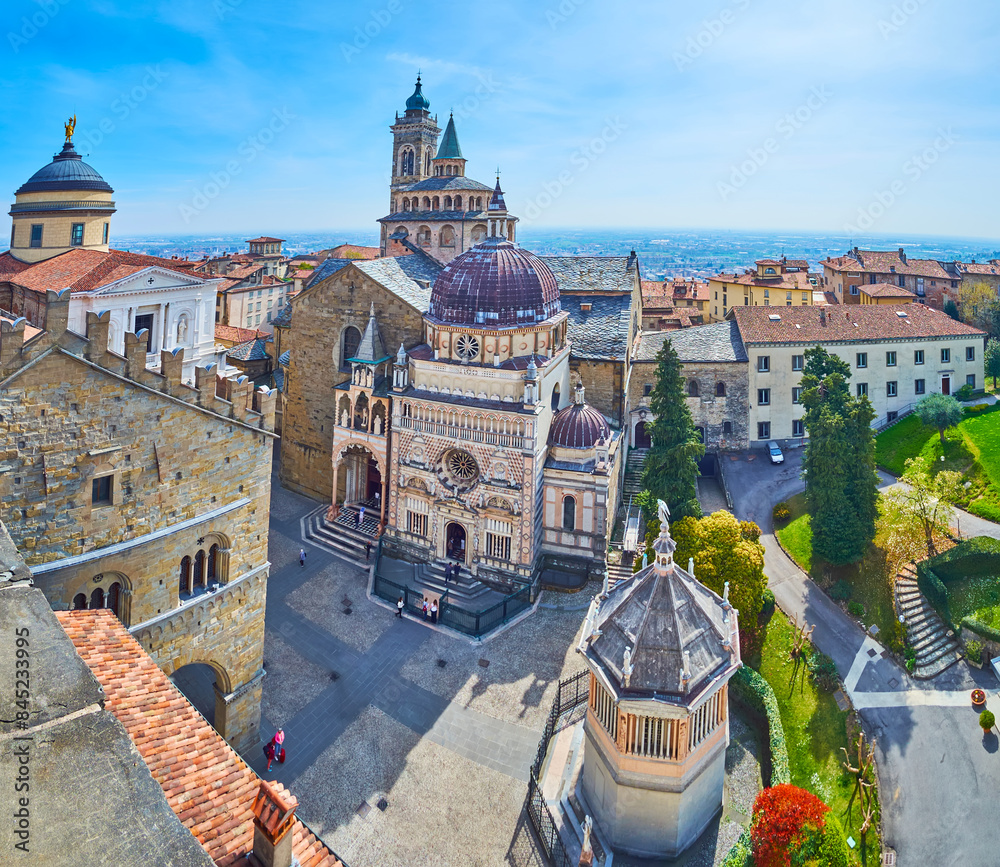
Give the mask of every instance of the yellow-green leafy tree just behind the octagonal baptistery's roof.
[[693, 557], [695, 577], [720, 596], [729, 582], [729, 601], [740, 613], [743, 654], [749, 656], [759, 644], [757, 619], [767, 587], [760, 528], [720, 511], [700, 519], [681, 518], [671, 524], [670, 532], [677, 543], [674, 560], [680, 566], [686, 569]]

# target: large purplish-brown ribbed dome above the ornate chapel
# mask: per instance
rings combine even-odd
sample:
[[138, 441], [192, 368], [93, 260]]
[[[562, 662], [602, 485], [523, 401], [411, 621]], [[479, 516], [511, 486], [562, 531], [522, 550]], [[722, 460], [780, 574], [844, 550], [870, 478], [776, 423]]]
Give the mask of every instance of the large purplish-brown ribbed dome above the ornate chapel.
[[516, 328], [559, 312], [559, 286], [541, 259], [501, 237], [457, 256], [434, 281], [428, 314], [449, 325]]

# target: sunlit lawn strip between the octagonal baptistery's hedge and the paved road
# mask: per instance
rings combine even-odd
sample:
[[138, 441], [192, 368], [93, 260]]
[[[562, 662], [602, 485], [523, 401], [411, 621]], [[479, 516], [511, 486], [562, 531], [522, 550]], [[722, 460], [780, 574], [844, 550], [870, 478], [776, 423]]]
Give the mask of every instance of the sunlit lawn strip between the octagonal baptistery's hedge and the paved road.
[[[780, 610], [775, 611], [760, 663], [760, 673], [778, 699], [792, 783], [813, 792], [830, 806], [847, 834], [859, 842], [852, 857], [860, 864], [861, 815], [857, 803], [852, 815], [847, 815], [854, 779], [841, 765], [844, 754], [840, 749], [848, 746], [848, 715], [837, 707], [832, 694], [816, 687], [804, 663], [796, 666], [790, 658], [793, 635], [788, 618]], [[881, 849], [874, 830], [868, 834], [867, 849], [867, 864], [875, 867], [880, 863]]]

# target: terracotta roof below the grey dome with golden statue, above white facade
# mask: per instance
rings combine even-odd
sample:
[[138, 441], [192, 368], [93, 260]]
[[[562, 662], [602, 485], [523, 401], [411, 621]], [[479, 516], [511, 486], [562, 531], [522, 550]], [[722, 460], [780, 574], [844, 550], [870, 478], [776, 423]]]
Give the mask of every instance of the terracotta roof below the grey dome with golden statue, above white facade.
[[[126, 253], [124, 250], [111, 250], [108, 253], [100, 250], [70, 250], [30, 265], [6, 279], [32, 292], [44, 293], [47, 289], [59, 290], [67, 286], [74, 292], [91, 292], [151, 267], [163, 268], [185, 277], [195, 276], [187, 268], [179, 268], [171, 259]], [[198, 279], [213, 278], [198, 275]]]

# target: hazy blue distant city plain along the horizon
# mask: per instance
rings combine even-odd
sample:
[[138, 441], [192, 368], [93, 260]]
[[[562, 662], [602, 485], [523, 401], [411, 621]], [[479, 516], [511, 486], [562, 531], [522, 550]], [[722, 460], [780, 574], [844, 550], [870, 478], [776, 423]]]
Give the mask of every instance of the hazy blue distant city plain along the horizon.
[[[378, 245], [377, 231], [286, 232], [290, 256], [329, 249], [339, 244]], [[124, 236], [115, 246], [152, 256], [202, 258], [245, 250], [250, 234]], [[670, 276], [708, 278], [723, 271], [751, 268], [758, 259], [787, 256], [806, 259], [810, 270], [821, 270], [827, 256], [843, 255], [854, 246], [869, 250], [903, 247], [914, 258], [942, 261], [987, 261], [1000, 258], [1000, 241], [933, 235], [865, 236], [796, 232], [741, 232], [720, 229], [545, 229], [524, 227], [520, 242], [541, 256], [621, 256], [639, 254], [646, 279]]]

